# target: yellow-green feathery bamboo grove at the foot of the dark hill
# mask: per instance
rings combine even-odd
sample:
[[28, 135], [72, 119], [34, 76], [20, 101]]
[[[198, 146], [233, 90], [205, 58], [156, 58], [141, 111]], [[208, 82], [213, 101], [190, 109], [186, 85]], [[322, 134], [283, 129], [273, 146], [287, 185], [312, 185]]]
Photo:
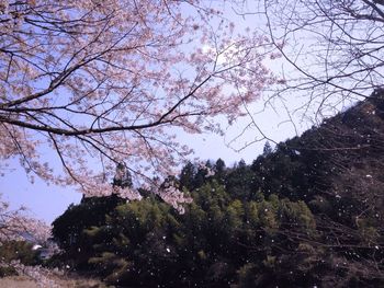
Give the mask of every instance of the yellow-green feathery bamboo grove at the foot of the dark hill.
[[[215, 178], [192, 197], [184, 215], [154, 197], [120, 204], [103, 223], [84, 227], [82, 238], [74, 244], [87, 251], [88, 268], [111, 284], [179, 287], [211, 283], [225, 287], [236, 279], [246, 258], [263, 264], [257, 254], [246, 253], [245, 246], [263, 242], [272, 252], [283, 240], [276, 235], [283, 223], [309, 227], [314, 221], [304, 203], [276, 195], [244, 201], [233, 198]], [[72, 257], [70, 250], [67, 255]], [[84, 260], [72, 260], [83, 267]]]

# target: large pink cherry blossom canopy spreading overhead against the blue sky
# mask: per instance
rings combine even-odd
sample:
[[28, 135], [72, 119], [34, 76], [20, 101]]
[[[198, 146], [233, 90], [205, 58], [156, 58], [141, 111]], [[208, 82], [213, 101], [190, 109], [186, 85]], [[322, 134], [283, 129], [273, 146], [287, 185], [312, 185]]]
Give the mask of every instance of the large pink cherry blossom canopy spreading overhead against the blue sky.
[[174, 174], [191, 153], [177, 133], [222, 133], [275, 81], [264, 37], [225, 18], [236, 2], [1, 0], [0, 157], [89, 196], [112, 193], [117, 164], [142, 183]]

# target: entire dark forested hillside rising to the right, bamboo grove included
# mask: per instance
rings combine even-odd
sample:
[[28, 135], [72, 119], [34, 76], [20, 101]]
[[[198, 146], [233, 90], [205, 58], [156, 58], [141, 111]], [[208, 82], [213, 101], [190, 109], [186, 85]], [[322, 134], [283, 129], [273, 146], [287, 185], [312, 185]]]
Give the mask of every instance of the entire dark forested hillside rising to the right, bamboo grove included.
[[381, 93], [251, 165], [188, 163], [193, 203], [83, 199], [54, 222], [56, 261], [117, 287], [383, 287]]

